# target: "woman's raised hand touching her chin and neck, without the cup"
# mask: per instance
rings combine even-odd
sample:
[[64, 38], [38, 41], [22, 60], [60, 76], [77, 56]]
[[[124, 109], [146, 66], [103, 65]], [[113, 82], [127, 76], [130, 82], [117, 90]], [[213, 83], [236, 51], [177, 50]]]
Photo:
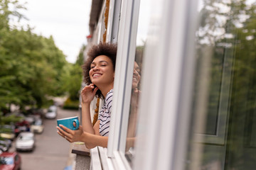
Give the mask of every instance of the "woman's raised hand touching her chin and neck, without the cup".
[[82, 89], [81, 91], [82, 103], [90, 103], [95, 97], [97, 90], [98, 88], [95, 88], [94, 84], [85, 86], [84, 89]]

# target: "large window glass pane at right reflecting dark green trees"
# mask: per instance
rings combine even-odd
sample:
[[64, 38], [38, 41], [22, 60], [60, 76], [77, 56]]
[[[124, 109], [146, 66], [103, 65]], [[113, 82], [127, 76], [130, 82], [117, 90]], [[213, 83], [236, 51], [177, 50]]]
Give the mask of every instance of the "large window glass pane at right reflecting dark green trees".
[[199, 1], [186, 169], [255, 169], [256, 1]]

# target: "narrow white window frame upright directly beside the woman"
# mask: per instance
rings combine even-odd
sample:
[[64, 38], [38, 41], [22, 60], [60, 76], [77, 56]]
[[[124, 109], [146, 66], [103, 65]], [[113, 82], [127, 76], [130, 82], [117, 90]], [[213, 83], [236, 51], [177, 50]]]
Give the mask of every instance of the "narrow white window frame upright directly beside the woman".
[[[119, 33], [117, 40], [117, 61], [115, 68], [114, 95], [112, 117], [110, 123], [110, 135], [107, 145], [107, 156], [114, 157], [114, 152], [118, 152], [120, 147], [124, 151], [125, 143], [123, 139], [122, 117], [129, 114], [129, 100], [132, 90], [132, 70], [134, 66], [134, 55], [137, 36], [137, 17], [134, 13], [134, 3], [139, 0], [124, 0], [121, 6], [121, 16], [119, 22]], [[139, 9], [137, 6], [136, 9]], [[139, 13], [139, 11], [137, 11]], [[125, 104], [124, 104], [125, 103]], [[128, 121], [128, 120], [127, 120]], [[126, 134], [126, 132], [124, 132]], [[122, 134], [122, 135], [121, 135]], [[125, 136], [126, 137], [126, 136]]]

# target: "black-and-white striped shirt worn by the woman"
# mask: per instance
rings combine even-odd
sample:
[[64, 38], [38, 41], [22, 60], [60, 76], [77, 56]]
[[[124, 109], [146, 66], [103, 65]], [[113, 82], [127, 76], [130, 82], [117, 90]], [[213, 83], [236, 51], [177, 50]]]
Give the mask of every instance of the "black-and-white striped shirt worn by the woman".
[[110, 115], [112, 108], [113, 89], [111, 89], [105, 98], [104, 104], [100, 109], [98, 120], [100, 120], [100, 135], [108, 136], [110, 131]]

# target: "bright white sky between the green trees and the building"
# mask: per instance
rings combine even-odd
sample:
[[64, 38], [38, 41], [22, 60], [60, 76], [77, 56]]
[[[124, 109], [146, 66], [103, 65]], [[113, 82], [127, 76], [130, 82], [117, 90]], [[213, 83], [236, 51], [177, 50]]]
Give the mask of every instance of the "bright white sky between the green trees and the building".
[[33, 33], [49, 38], [75, 63], [82, 44], [89, 35], [90, 7], [92, 0], [20, 0], [27, 2], [27, 10], [21, 13], [28, 18], [21, 25], [34, 28]]

